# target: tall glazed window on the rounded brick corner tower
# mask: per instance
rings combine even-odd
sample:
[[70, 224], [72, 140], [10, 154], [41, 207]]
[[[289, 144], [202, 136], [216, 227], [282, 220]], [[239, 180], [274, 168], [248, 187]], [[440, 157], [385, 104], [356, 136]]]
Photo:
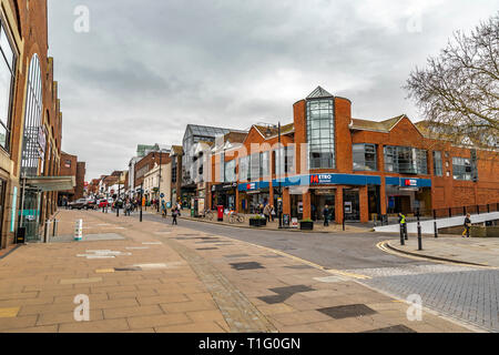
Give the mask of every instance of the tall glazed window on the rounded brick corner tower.
[[333, 99], [307, 101], [307, 142], [310, 169], [335, 168]]

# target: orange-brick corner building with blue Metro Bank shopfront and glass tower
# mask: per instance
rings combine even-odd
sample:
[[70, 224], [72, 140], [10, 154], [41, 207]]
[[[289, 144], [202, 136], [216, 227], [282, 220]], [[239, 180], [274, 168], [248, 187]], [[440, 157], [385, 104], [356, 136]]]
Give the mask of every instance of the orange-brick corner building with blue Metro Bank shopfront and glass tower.
[[406, 115], [354, 119], [348, 99], [320, 87], [293, 112], [282, 146], [276, 126], [253, 125], [241, 146], [214, 153], [210, 207], [231, 201], [220, 199], [227, 184], [240, 212], [282, 195], [284, 214], [320, 220], [328, 205], [337, 223], [499, 202], [497, 152], [431, 140]]

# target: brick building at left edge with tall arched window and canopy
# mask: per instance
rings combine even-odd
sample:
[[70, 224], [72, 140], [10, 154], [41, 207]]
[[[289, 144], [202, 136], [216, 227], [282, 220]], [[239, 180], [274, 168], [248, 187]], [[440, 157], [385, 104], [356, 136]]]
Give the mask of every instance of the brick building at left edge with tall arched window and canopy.
[[55, 190], [71, 184], [51, 179], [59, 175], [62, 114], [47, 14], [44, 0], [0, 0], [0, 74], [7, 79], [0, 83], [2, 248], [13, 243], [19, 226], [28, 240], [38, 240], [57, 209]]

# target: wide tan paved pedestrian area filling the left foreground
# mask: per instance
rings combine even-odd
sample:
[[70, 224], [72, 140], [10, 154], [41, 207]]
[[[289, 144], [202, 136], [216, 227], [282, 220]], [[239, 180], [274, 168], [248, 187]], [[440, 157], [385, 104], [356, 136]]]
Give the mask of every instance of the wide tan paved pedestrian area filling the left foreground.
[[[60, 217], [53, 243], [0, 261], [1, 332], [470, 332], [429, 312], [410, 322], [407, 304], [359, 283], [367, 275], [206, 229], [99, 212]], [[79, 217], [91, 241], [63, 236]], [[90, 322], [74, 321], [81, 294]]]

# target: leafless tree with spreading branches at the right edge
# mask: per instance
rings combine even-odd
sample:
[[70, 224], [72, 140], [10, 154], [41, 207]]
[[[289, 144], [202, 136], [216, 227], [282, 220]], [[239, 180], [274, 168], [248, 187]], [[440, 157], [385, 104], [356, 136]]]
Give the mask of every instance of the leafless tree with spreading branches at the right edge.
[[426, 69], [414, 70], [405, 85], [428, 133], [477, 148], [498, 148], [499, 12], [471, 33], [454, 33]]

